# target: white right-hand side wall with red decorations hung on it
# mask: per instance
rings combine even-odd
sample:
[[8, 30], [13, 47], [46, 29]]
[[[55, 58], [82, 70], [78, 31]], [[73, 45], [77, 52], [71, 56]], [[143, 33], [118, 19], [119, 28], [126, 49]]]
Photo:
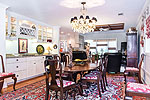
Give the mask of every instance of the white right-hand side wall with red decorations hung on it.
[[[149, 14], [145, 14], [144, 12], [146, 11], [147, 7], [149, 7]], [[142, 16], [146, 16], [146, 18], [144, 19], [144, 21], [142, 21]], [[139, 16], [139, 19], [137, 21], [137, 30], [138, 30], [138, 35], [139, 38], [140, 36], [144, 36], [144, 47], [141, 46], [140, 44], [140, 40], [139, 40], [139, 46], [140, 46], [140, 54], [144, 53], [145, 59], [144, 59], [144, 63], [142, 64], [142, 79], [146, 84], [150, 84], [150, 39], [147, 38], [146, 35], [146, 19], [148, 18], [148, 16], [150, 16], [150, 0], [147, 0], [142, 11], [141, 14]], [[142, 24], [144, 24], [144, 32], [141, 31], [141, 26]]]

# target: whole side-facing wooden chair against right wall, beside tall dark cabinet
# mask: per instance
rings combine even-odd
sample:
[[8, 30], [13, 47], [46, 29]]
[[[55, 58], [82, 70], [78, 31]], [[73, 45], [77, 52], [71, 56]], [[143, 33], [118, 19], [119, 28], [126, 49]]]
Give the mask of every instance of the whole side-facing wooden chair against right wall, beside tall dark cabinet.
[[144, 60], [144, 54], [141, 54], [141, 60], [139, 62], [138, 68], [137, 67], [126, 67], [125, 71], [124, 71], [124, 79], [125, 79], [125, 83], [126, 83], [126, 77], [128, 76], [128, 73], [134, 73], [134, 74], [138, 74], [138, 80], [140, 83], [142, 83], [141, 81], [141, 67], [142, 67], [142, 62]]

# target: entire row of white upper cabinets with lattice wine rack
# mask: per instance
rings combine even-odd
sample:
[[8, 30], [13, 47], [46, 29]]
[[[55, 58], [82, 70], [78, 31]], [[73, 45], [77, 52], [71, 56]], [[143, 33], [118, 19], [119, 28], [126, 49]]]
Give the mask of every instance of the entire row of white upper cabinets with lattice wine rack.
[[[32, 20], [32, 19], [31, 19]], [[40, 23], [40, 24], [39, 24]], [[6, 16], [6, 38], [35, 38], [37, 42], [52, 42], [53, 28], [41, 22], [8, 14]]]

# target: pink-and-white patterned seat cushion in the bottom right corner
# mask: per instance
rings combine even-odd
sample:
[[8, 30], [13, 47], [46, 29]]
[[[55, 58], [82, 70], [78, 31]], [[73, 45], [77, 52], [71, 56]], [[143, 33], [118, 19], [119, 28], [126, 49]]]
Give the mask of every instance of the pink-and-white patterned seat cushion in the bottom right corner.
[[146, 84], [128, 82], [126, 90], [129, 92], [150, 93], [150, 86]]

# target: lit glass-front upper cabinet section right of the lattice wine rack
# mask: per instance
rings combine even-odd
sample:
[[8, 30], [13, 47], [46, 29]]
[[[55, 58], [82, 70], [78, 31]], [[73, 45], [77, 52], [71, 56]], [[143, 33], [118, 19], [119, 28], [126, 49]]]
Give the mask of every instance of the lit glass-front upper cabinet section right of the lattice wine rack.
[[52, 42], [52, 34], [52, 28], [39, 25], [37, 37], [38, 42]]

